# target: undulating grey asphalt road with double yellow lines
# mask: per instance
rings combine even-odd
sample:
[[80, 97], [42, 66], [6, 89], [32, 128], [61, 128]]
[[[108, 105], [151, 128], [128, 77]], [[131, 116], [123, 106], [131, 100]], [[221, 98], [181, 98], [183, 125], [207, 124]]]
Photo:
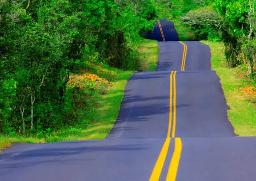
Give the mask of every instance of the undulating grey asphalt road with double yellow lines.
[[166, 20], [148, 36], [157, 71], [130, 78], [106, 140], [14, 145], [0, 181], [256, 181], [256, 138], [235, 135], [209, 47]]

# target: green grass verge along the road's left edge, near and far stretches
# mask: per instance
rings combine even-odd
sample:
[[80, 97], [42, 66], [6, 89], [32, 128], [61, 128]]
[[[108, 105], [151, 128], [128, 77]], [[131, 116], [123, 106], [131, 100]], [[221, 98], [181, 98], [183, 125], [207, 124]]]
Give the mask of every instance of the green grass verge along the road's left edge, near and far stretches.
[[[159, 47], [157, 41], [144, 39], [139, 48], [139, 61], [144, 71], [155, 71]], [[89, 114], [88, 127], [68, 127], [44, 137], [21, 137], [21, 136], [0, 136], [0, 150], [3, 150], [15, 143], [49, 143], [72, 140], [102, 140], [105, 139], [118, 116], [124, 89], [132, 71], [122, 71], [108, 66], [92, 65], [90, 73], [99, 77], [112, 80], [112, 85], [108, 87], [103, 95], [100, 92], [93, 92], [89, 101], [97, 104], [86, 111]], [[71, 76], [72, 77], [72, 76]], [[73, 81], [83, 82], [81, 76], [75, 76]], [[99, 84], [98, 86], [100, 86]], [[97, 89], [106, 90], [106, 85]], [[92, 90], [97, 91], [97, 90]], [[101, 90], [100, 90], [101, 91]], [[87, 113], [86, 112], [86, 113]]]

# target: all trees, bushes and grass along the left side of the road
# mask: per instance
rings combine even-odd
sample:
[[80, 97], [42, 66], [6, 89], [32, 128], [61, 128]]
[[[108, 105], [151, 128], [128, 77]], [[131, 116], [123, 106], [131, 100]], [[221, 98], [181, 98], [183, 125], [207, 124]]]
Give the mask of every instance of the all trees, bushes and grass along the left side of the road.
[[0, 149], [104, 139], [129, 77], [156, 67], [154, 18], [150, 0], [0, 0]]

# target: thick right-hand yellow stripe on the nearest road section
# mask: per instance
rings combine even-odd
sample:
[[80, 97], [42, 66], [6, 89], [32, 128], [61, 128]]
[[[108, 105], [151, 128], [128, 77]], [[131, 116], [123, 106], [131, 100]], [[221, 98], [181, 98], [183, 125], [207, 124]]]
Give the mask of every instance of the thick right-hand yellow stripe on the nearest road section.
[[170, 167], [166, 177], [166, 181], [175, 181], [177, 176], [177, 171], [179, 167], [179, 160], [182, 151], [182, 142], [180, 138], [175, 138], [175, 148], [171, 158]]

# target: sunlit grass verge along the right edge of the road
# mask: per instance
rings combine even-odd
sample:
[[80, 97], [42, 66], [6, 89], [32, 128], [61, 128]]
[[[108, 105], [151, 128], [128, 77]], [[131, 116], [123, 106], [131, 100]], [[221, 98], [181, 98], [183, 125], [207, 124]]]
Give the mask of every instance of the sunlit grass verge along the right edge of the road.
[[[256, 136], [256, 94], [255, 82], [247, 78], [242, 67], [229, 69], [226, 67], [222, 44], [202, 41], [212, 51], [212, 69], [217, 72], [226, 101], [230, 109], [228, 117], [239, 136]], [[251, 91], [249, 91], [251, 90]]]

